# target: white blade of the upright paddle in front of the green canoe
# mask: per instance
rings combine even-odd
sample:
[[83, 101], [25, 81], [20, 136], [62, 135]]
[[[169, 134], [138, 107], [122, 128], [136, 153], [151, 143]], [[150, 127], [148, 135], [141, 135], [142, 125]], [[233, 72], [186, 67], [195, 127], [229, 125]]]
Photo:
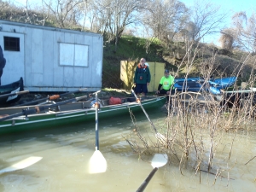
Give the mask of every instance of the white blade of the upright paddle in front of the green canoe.
[[107, 171], [107, 161], [103, 154], [96, 150], [90, 157], [90, 174]]

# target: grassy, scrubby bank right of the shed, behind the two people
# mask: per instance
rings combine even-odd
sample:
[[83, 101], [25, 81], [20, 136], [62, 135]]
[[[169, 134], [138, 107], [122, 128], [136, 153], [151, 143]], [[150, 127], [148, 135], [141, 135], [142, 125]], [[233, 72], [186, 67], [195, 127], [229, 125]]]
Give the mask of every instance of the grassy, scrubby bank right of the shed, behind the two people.
[[[119, 40], [117, 51], [114, 44], [104, 43], [102, 88], [122, 88], [120, 80], [120, 61], [137, 61], [145, 57], [147, 61], [160, 61], [178, 77], [188, 74], [190, 77], [227, 77], [238, 76], [239, 82], [247, 80], [253, 68], [255, 58], [243, 61], [247, 53], [235, 50], [218, 49], [214, 45], [199, 44], [192, 51], [186, 51], [183, 42], [172, 43], [169, 49], [153, 42], [146, 49], [144, 38], [123, 36]], [[187, 53], [187, 55], [186, 55]], [[188, 53], [190, 54], [188, 56]], [[177, 70], [178, 69], [178, 70]]]

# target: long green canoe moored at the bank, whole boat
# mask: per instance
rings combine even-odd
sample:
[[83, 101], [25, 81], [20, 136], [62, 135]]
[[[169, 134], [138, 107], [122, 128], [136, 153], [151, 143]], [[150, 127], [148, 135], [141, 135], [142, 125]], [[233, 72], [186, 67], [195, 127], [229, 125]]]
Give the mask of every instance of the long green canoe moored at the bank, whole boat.
[[[129, 102], [130, 101], [130, 102]], [[142, 112], [142, 108], [137, 102], [132, 102], [129, 98], [123, 100], [122, 104], [108, 105], [108, 101], [100, 101], [101, 108], [98, 111], [100, 120], [108, 117], [116, 117], [118, 115], [127, 115], [130, 117], [129, 109], [132, 113]], [[161, 108], [166, 102], [166, 96], [145, 96], [142, 99], [143, 108]], [[58, 103], [56, 103], [58, 104]], [[16, 107], [16, 108], [0, 108], [0, 133], [8, 133], [15, 131], [27, 131], [44, 127], [56, 127], [63, 125], [74, 125], [82, 122], [93, 121], [96, 119], [95, 108], [91, 108], [91, 101], [73, 102], [47, 110], [37, 111], [37, 113], [24, 114], [24, 110], [29, 108], [30, 111], [35, 110], [36, 106]], [[33, 108], [33, 109], [32, 109]], [[42, 107], [40, 107], [42, 108]], [[20, 115], [19, 115], [20, 113]], [[15, 115], [14, 115], [15, 114]], [[12, 117], [6, 119], [6, 117]], [[5, 119], [4, 119], [5, 118]], [[4, 119], [4, 120], [3, 120]]]

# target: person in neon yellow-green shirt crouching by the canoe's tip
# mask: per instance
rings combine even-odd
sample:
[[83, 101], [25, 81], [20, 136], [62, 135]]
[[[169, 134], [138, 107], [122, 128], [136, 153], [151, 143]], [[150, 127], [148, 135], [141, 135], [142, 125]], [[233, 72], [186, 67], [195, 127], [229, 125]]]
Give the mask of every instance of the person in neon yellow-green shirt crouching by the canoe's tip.
[[172, 75], [170, 75], [169, 70], [166, 69], [165, 70], [165, 75], [160, 79], [160, 83], [158, 85], [158, 89], [155, 92], [155, 94], [169, 95], [170, 92], [171, 92], [171, 94], [174, 94], [175, 87], [172, 86], [172, 84], [174, 84], [174, 78], [172, 77]]

